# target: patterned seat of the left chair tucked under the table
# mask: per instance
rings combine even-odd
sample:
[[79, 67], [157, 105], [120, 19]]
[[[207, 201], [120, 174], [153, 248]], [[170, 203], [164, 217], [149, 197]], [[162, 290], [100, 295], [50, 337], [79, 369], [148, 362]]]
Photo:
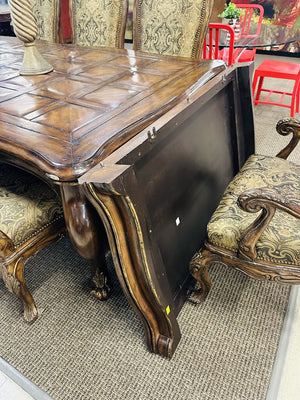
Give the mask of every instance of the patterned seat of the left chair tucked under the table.
[[60, 199], [46, 183], [0, 164], [0, 230], [16, 248], [58, 218], [63, 218]]

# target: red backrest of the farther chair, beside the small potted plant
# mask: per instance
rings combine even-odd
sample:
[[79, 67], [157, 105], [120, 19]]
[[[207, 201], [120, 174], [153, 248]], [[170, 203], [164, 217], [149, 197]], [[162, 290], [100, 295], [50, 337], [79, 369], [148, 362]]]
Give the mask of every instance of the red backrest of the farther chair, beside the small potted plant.
[[[237, 4], [237, 7], [244, 10], [244, 14], [240, 18], [241, 36], [255, 37], [259, 35], [264, 16], [264, 8], [260, 4]], [[252, 31], [251, 22], [253, 22], [254, 18], [256, 30]]]

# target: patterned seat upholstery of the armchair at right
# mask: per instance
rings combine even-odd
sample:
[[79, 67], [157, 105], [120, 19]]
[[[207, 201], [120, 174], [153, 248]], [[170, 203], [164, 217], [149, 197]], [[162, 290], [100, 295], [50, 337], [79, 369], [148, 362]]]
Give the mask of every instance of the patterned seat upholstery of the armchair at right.
[[[237, 252], [241, 233], [257, 218], [237, 205], [238, 196], [248, 189], [268, 188], [299, 204], [300, 166], [286, 160], [252, 155], [228, 185], [208, 226], [208, 242]], [[257, 242], [257, 259], [300, 265], [300, 219], [276, 210]]]

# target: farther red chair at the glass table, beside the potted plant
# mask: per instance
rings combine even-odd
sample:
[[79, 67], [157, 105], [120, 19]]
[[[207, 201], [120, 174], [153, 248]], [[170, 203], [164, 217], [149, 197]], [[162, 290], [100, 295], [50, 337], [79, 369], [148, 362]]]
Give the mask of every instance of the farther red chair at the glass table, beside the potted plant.
[[[234, 1], [233, 1], [234, 3]], [[264, 16], [264, 8], [260, 4], [237, 4], [238, 8], [244, 10], [244, 14], [240, 18], [240, 34], [241, 38], [255, 38], [259, 35], [261, 24]], [[255, 21], [255, 30], [253, 30], [253, 19]], [[233, 55], [234, 62], [253, 61], [256, 54], [256, 48], [252, 49], [236, 49]]]

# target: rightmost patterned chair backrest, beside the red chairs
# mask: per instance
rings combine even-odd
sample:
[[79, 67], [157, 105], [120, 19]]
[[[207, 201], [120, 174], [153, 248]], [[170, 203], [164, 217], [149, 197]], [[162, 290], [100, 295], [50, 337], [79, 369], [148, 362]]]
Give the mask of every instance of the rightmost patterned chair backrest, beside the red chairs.
[[133, 49], [200, 58], [212, 0], [135, 0]]

